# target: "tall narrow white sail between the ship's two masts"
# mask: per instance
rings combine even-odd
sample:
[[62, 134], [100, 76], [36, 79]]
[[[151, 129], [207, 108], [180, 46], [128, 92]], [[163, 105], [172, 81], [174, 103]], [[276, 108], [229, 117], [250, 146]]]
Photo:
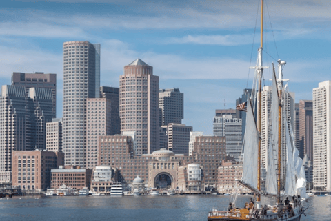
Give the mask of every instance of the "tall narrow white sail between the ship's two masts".
[[269, 194], [277, 194], [277, 160], [278, 160], [278, 119], [279, 96], [277, 90], [276, 75], [272, 75], [272, 101], [271, 101], [271, 131], [268, 145], [268, 170], [265, 180], [265, 191]]

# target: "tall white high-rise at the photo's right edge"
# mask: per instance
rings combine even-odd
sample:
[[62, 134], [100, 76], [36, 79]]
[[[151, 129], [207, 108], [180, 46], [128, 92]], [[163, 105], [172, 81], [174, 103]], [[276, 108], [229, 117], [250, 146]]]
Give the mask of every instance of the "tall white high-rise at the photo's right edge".
[[331, 81], [312, 90], [313, 182], [316, 191], [331, 191]]

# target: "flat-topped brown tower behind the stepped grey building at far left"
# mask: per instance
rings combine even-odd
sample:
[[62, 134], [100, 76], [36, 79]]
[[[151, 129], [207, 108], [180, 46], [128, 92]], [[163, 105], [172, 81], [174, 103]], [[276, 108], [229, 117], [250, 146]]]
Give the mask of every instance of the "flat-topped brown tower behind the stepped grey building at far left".
[[57, 117], [57, 74], [36, 73], [12, 73], [12, 85], [26, 88], [28, 96], [29, 88], [52, 89], [52, 118]]

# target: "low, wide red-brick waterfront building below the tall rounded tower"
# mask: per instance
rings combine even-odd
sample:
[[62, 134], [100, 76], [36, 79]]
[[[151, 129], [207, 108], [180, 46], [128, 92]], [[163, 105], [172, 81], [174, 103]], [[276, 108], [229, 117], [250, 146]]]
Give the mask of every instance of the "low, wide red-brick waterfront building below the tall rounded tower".
[[59, 169], [52, 169], [52, 189], [58, 189], [62, 184], [72, 189], [83, 189], [91, 184], [91, 169], [81, 169], [80, 166], [59, 166]]

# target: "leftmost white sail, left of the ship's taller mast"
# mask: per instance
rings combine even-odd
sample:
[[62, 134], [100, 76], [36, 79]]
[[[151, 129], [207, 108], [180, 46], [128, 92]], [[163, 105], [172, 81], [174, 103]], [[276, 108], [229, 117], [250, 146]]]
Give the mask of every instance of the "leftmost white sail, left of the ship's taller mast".
[[250, 99], [247, 101], [246, 129], [243, 154], [243, 182], [257, 190], [257, 157], [259, 145], [259, 132], [252, 112]]

